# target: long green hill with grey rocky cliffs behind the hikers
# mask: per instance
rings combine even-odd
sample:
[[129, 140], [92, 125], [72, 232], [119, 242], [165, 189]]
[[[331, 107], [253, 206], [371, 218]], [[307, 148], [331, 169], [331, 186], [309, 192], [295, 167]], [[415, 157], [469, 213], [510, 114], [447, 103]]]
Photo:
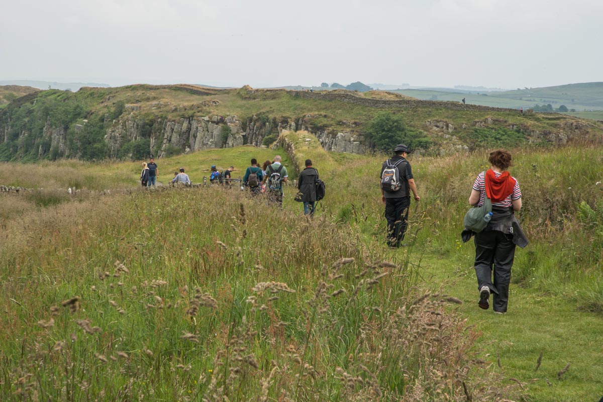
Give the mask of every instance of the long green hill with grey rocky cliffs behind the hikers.
[[[449, 96], [453, 96], [450, 95]], [[478, 96], [478, 95], [475, 95]], [[490, 96], [484, 96], [490, 99]], [[513, 102], [513, 99], [504, 99]], [[365, 152], [386, 111], [431, 142], [434, 154], [480, 146], [593, 140], [603, 125], [555, 113], [526, 113], [390, 92], [214, 89], [188, 84], [45, 90], [0, 111], [0, 160], [160, 157], [207, 148], [262, 145], [283, 129], [308, 130], [326, 149]], [[515, 140], [508, 140], [511, 134]]]

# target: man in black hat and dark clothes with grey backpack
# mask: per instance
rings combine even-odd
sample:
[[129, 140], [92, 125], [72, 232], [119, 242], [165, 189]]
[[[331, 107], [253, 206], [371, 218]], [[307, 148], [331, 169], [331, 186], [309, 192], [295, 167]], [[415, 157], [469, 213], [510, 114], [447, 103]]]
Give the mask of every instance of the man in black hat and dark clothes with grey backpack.
[[406, 145], [397, 145], [394, 148], [394, 156], [381, 166], [381, 201], [385, 204], [387, 243], [390, 247], [400, 247], [400, 242], [404, 239], [408, 224], [408, 208], [411, 204], [411, 190], [415, 201], [421, 199], [412, 178], [411, 165], [406, 160], [408, 152], [410, 151]]

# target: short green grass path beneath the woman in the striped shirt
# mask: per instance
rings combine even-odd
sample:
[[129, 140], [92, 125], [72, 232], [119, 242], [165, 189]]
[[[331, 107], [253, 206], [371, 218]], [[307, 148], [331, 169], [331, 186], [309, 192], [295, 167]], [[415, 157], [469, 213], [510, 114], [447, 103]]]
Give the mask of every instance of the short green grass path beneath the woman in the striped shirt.
[[[529, 401], [598, 402], [603, 397], [603, 316], [579, 312], [566, 298], [513, 281], [506, 315], [482, 310], [471, 247], [463, 248], [467, 256], [452, 263], [448, 257], [423, 257], [423, 275], [427, 283], [444, 281], [447, 294], [463, 300], [459, 311], [482, 333], [480, 342], [493, 367], [500, 357], [505, 377], [522, 382]], [[534, 371], [540, 351], [541, 365]], [[559, 379], [557, 373], [568, 363]]]

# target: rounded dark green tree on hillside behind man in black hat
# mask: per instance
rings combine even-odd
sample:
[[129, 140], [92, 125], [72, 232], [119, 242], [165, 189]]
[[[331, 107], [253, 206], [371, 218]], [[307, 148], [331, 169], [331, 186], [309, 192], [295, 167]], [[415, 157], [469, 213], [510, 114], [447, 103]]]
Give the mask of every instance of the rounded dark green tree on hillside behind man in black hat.
[[371, 120], [367, 134], [373, 149], [377, 151], [391, 152], [400, 143], [408, 145], [410, 149], [428, 149], [432, 145], [423, 131], [406, 128], [402, 116], [389, 111], [382, 111]]

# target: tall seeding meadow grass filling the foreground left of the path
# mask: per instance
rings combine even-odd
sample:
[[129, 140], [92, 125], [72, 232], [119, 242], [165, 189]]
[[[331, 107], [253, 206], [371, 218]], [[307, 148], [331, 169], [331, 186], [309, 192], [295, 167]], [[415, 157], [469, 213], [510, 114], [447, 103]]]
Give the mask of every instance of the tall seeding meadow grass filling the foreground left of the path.
[[475, 359], [476, 334], [446, 308], [459, 301], [420, 290], [412, 250], [388, 258], [327, 210], [308, 220], [235, 189], [140, 189], [6, 230], [2, 400], [517, 392]]

